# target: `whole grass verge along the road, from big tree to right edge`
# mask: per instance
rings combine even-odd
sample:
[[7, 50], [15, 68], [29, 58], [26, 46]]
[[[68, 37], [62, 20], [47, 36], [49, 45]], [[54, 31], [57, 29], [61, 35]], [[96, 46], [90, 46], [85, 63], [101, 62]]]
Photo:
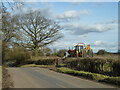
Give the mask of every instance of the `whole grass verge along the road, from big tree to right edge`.
[[[120, 77], [110, 77], [102, 74], [91, 73], [86, 71], [77, 71], [72, 70], [70, 68], [66, 68], [66, 64], [59, 64], [57, 67], [54, 65], [36, 65], [36, 64], [26, 64], [21, 67], [41, 67], [41, 68], [49, 68], [50, 70], [54, 70], [60, 73], [65, 73], [77, 77], [82, 77], [90, 80], [94, 80], [97, 82], [105, 82], [109, 84], [114, 84], [120, 86]], [[51, 69], [52, 68], [52, 69]]]

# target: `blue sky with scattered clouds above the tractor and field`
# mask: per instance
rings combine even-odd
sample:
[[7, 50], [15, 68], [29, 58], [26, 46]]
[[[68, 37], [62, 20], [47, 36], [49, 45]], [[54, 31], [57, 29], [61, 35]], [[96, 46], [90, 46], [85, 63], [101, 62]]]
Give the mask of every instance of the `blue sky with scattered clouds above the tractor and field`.
[[118, 2], [26, 2], [17, 12], [40, 10], [63, 28], [63, 37], [51, 49], [90, 44], [94, 52], [118, 50]]

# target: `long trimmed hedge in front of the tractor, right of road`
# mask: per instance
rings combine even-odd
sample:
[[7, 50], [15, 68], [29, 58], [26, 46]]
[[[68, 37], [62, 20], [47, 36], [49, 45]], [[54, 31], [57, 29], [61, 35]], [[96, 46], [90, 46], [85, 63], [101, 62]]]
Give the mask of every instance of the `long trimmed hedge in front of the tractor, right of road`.
[[120, 61], [100, 58], [67, 59], [66, 65], [74, 70], [100, 73], [110, 76], [120, 76]]

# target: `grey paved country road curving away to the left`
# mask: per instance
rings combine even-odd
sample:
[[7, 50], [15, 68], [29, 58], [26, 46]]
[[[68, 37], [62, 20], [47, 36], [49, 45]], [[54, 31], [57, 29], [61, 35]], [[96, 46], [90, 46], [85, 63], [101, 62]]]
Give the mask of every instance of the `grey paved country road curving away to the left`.
[[113, 88], [38, 67], [8, 68], [14, 88]]

